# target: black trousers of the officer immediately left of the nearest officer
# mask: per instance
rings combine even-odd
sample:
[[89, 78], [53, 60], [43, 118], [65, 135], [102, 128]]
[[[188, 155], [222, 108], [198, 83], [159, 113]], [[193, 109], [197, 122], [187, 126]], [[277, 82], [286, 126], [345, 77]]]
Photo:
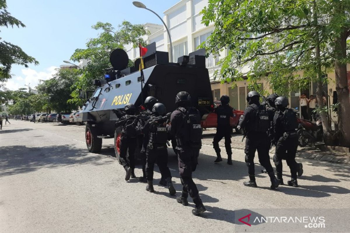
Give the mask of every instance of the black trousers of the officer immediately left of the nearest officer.
[[154, 163], [157, 163], [162, 177], [172, 177], [168, 167], [168, 150], [166, 145], [157, 148], [153, 145], [153, 149], [147, 147], [146, 150], [146, 177], [147, 180], [153, 180]]

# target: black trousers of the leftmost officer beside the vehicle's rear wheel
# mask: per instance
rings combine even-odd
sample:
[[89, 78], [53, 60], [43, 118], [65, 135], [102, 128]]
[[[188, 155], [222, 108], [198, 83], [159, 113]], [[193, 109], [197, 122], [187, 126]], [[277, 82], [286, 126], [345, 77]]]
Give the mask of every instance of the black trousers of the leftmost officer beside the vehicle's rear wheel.
[[[135, 149], [137, 146], [137, 138], [121, 136], [120, 138], [120, 154], [119, 163], [124, 168], [135, 168]], [[128, 156], [126, 156], [128, 155]]]

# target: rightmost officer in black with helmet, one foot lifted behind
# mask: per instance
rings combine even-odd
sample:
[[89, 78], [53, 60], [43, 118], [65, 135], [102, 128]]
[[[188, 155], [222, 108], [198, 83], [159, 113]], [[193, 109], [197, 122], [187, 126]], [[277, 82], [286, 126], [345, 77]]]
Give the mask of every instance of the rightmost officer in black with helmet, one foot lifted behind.
[[297, 175], [302, 175], [303, 166], [301, 163], [295, 161], [296, 149], [298, 147], [298, 137], [295, 130], [298, 128], [297, 118], [292, 109], [287, 109], [289, 103], [286, 97], [278, 97], [275, 100], [275, 104], [277, 111], [273, 119], [273, 130], [276, 151], [273, 161], [276, 166], [277, 179], [280, 184], [284, 184], [282, 179], [282, 159], [285, 159], [292, 177], [288, 181], [288, 185], [298, 187]]

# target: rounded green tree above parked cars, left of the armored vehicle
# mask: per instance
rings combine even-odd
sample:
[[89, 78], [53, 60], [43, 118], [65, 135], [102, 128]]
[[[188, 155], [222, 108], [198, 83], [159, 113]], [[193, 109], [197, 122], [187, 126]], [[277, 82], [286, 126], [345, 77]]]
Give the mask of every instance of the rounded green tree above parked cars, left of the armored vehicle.
[[[69, 103], [71, 86], [79, 78], [80, 70], [77, 69], [57, 69], [57, 73], [52, 79], [42, 81], [37, 86], [38, 101], [44, 103], [47, 98], [47, 106], [57, 112], [71, 111], [77, 109], [75, 103]], [[43, 107], [45, 109], [45, 107]]]

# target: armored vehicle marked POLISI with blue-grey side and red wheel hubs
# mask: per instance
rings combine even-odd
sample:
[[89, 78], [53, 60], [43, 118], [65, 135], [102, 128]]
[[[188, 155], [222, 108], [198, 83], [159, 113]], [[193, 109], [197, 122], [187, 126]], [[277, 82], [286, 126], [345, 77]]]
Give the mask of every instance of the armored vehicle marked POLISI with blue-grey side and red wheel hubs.
[[127, 53], [116, 49], [110, 57], [113, 67], [107, 70], [105, 79], [93, 81], [97, 89], [80, 113], [86, 123], [85, 139], [89, 152], [98, 153], [102, 139], [114, 138], [118, 156], [121, 132], [116, 128], [118, 111], [124, 110], [128, 103], [133, 103], [141, 111], [147, 96], [154, 96], [165, 104], [167, 112], [176, 109], [175, 96], [180, 91], [191, 95], [192, 105], [202, 116], [207, 116], [214, 108], [204, 50], [182, 56], [177, 63], [169, 63], [168, 52], [156, 51], [155, 43], [146, 48], [143, 70], [139, 69], [140, 59], [135, 61], [134, 67], [127, 67]]

